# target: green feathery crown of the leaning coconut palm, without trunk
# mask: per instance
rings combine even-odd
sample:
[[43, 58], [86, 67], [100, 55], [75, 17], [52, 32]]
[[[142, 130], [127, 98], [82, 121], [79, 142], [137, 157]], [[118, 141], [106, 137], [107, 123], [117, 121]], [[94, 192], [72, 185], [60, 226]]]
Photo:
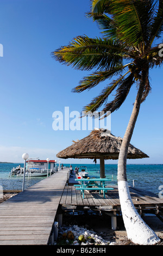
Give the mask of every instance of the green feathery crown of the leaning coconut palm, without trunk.
[[[149, 69], [162, 64], [159, 45], [154, 45], [163, 31], [163, 1], [154, 0], [93, 0], [87, 16], [97, 21], [102, 38], [77, 36], [67, 46], [54, 51], [53, 57], [74, 69], [92, 70], [73, 92], [90, 90], [105, 80], [102, 92], [84, 107], [97, 111], [102, 105], [114, 112], [126, 99], [131, 86], [143, 83], [141, 102], [151, 91]], [[114, 80], [114, 77], [116, 79]], [[108, 96], [116, 89], [114, 100]]]

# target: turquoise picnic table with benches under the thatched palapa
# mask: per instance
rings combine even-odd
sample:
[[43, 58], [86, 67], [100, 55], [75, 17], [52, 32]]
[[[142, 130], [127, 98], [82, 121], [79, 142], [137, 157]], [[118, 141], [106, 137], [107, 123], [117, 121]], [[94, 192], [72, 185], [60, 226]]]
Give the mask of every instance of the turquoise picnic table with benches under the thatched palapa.
[[[99, 190], [99, 194], [103, 191], [103, 196], [105, 198], [105, 191], [107, 190], [114, 190], [112, 187], [105, 187], [105, 181], [111, 181], [106, 178], [92, 178], [92, 179], [75, 179], [80, 181], [80, 184], [74, 185], [76, 190], [80, 190], [80, 193], [83, 194], [84, 198], [84, 191], [85, 190]], [[96, 186], [96, 187], [95, 187]]]

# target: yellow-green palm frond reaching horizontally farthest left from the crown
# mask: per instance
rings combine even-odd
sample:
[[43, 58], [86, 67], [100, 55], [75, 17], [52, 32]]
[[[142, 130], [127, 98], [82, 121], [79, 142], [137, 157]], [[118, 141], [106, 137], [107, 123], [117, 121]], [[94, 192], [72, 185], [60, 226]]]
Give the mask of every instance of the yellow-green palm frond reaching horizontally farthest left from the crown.
[[74, 69], [111, 69], [123, 63], [123, 54], [128, 54], [117, 40], [77, 36], [68, 46], [60, 47], [53, 57]]

